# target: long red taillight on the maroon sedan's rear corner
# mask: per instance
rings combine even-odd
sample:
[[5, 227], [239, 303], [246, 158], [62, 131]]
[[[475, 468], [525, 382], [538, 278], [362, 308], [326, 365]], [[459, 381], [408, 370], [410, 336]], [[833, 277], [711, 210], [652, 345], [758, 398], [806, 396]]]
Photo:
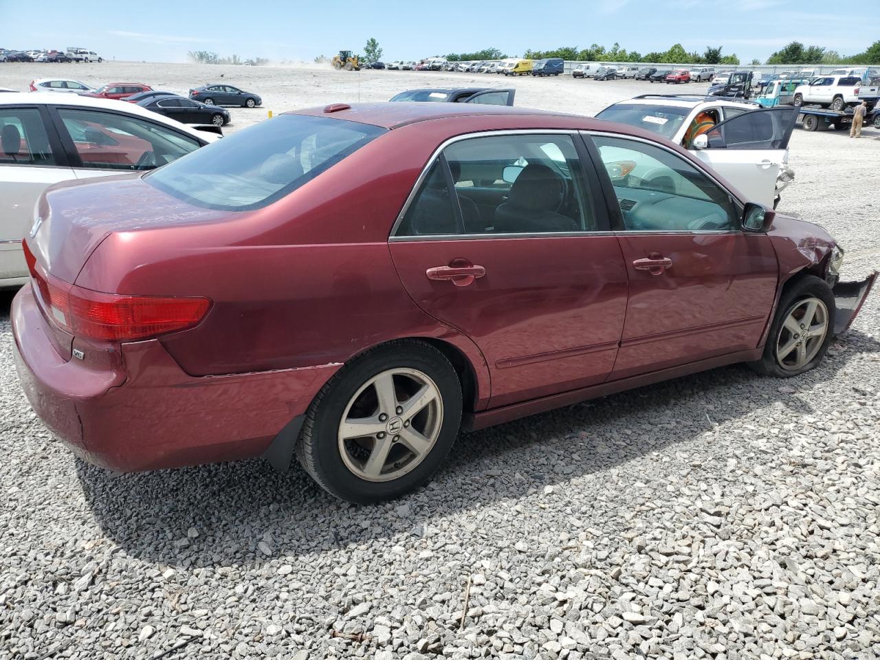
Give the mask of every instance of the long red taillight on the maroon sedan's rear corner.
[[210, 307], [203, 297], [124, 296], [83, 289], [41, 275], [35, 267], [31, 275], [55, 324], [97, 341], [136, 341], [183, 330], [201, 321]]

